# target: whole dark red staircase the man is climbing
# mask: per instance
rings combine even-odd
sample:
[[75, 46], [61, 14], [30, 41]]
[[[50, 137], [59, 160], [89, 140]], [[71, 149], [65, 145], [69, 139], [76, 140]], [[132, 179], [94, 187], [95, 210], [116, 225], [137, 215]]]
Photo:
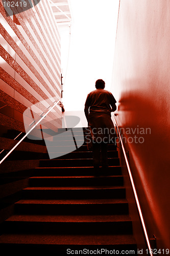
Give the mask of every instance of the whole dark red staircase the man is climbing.
[[[79, 129], [74, 131], [79, 136]], [[108, 157], [109, 167], [100, 177], [94, 176], [86, 141], [72, 153], [41, 159], [14, 204], [14, 215], [1, 225], [0, 248], [52, 255], [83, 249], [137, 254], [115, 145], [108, 145]]]

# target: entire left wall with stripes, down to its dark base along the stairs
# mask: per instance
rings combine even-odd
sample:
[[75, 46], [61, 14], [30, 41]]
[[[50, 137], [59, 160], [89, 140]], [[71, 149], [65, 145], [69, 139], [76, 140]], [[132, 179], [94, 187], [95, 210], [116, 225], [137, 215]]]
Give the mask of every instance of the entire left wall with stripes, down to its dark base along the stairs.
[[[49, 2], [41, 0], [35, 8], [7, 17], [0, 0], [0, 159], [25, 132], [23, 112], [31, 108], [30, 124], [61, 99], [60, 35], [53, 15]], [[44, 126], [57, 131], [61, 116], [57, 105]], [[1, 164], [0, 223], [13, 213], [18, 191], [28, 186], [26, 177], [33, 175], [39, 159], [47, 157], [42, 140], [26, 138]]]

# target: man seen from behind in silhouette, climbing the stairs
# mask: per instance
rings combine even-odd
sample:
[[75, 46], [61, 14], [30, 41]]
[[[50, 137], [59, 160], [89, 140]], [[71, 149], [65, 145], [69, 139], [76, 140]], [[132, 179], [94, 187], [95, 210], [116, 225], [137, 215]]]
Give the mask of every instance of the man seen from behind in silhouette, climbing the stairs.
[[98, 175], [100, 165], [108, 167], [107, 144], [111, 137], [115, 137], [111, 112], [116, 110], [116, 100], [111, 92], [104, 90], [105, 81], [102, 79], [96, 80], [95, 88], [96, 90], [87, 95], [84, 112], [90, 131], [87, 147], [92, 147], [93, 166]]

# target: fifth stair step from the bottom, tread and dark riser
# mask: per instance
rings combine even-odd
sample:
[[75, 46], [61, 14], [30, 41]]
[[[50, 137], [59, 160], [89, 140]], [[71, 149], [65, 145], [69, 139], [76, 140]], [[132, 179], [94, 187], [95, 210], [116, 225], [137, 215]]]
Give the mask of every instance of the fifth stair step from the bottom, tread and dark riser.
[[114, 185], [124, 185], [123, 176], [103, 176], [103, 177], [93, 177], [93, 176], [41, 176], [41, 177], [31, 177], [29, 179], [30, 186], [42, 187], [42, 186], [114, 186]]

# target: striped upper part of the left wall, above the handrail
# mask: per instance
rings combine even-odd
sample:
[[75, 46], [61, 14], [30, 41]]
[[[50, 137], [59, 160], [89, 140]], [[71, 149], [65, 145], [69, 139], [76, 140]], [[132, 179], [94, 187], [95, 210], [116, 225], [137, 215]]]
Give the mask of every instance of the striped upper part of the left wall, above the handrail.
[[[61, 61], [60, 35], [47, 0], [8, 17], [0, 2], [0, 32], [2, 136], [5, 128], [25, 132], [23, 112], [31, 105], [46, 113], [61, 99]], [[60, 106], [50, 116], [53, 128], [61, 127]]]

